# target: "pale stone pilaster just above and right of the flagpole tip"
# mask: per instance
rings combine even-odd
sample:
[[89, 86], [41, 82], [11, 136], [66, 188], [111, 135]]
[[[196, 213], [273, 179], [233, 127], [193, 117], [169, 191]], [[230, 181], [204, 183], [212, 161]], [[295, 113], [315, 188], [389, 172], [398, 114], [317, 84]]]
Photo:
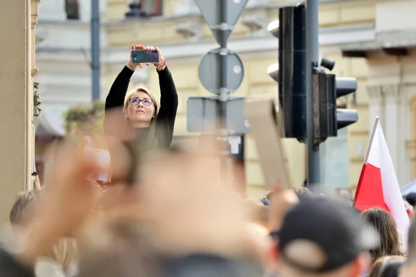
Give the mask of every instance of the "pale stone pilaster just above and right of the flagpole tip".
[[385, 84], [381, 87], [381, 91], [383, 91], [385, 97], [385, 116], [382, 118], [384, 122], [383, 133], [395, 166], [397, 178], [401, 179], [399, 172], [399, 85]]

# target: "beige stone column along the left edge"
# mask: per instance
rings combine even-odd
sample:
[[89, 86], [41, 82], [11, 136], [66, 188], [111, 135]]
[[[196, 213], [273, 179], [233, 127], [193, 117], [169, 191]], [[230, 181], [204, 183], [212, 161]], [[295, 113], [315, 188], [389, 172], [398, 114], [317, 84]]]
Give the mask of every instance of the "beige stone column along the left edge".
[[1, 1], [0, 222], [17, 193], [33, 186], [32, 13], [31, 0]]

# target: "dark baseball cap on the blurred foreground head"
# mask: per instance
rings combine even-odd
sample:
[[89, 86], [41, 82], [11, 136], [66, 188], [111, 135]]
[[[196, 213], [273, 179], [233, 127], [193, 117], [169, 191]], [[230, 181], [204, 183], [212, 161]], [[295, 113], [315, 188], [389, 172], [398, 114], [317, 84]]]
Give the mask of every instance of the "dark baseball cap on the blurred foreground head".
[[[306, 265], [308, 262], [289, 253], [292, 243], [301, 241], [311, 243], [324, 254], [319, 265]], [[279, 232], [281, 259], [309, 274], [323, 274], [347, 265], [378, 243], [378, 233], [363, 222], [351, 204], [322, 196], [307, 197], [288, 211]]]

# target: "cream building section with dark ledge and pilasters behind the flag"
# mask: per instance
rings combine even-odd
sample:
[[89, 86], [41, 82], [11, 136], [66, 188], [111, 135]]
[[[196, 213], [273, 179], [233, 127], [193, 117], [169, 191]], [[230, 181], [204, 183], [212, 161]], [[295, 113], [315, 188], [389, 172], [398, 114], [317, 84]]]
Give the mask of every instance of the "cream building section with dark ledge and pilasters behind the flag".
[[401, 185], [416, 179], [415, 8], [415, 1], [379, 1], [372, 10], [373, 39], [342, 48], [345, 56], [367, 62], [369, 130], [380, 116]]

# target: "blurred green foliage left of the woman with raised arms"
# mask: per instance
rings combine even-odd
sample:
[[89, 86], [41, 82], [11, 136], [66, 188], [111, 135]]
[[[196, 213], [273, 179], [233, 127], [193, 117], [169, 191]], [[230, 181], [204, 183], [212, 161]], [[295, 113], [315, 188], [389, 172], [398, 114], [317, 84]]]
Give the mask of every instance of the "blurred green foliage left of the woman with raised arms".
[[63, 115], [66, 135], [77, 141], [83, 141], [85, 136], [92, 139], [102, 138], [104, 107], [105, 103], [98, 100], [89, 105], [79, 104], [69, 108]]

